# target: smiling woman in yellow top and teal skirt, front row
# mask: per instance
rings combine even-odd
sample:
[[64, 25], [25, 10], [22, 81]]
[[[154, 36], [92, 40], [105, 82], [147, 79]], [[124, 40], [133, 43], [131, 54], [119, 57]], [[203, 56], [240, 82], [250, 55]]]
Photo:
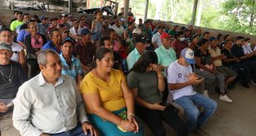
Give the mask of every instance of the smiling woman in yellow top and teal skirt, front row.
[[92, 71], [81, 82], [89, 120], [101, 136], [143, 135], [135, 120], [133, 95], [123, 73], [112, 68], [113, 59], [111, 49], [98, 49]]

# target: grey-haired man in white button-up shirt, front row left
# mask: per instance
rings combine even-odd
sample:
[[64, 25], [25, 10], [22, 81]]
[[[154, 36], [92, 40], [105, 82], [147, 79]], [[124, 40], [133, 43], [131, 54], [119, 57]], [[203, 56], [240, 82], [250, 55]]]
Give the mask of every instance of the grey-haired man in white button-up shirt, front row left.
[[41, 73], [19, 88], [13, 125], [23, 136], [97, 135], [88, 122], [76, 82], [61, 74], [59, 55], [46, 49], [37, 60]]

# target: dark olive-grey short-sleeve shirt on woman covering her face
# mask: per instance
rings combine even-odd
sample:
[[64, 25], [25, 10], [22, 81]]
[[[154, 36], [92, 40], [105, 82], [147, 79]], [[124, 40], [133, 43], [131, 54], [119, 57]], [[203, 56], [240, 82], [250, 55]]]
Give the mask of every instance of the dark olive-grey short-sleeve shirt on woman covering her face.
[[149, 73], [131, 71], [127, 75], [127, 83], [130, 89], [138, 89], [138, 96], [144, 101], [152, 104], [161, 101], [158, 90], [158, 77], [154, 71]]

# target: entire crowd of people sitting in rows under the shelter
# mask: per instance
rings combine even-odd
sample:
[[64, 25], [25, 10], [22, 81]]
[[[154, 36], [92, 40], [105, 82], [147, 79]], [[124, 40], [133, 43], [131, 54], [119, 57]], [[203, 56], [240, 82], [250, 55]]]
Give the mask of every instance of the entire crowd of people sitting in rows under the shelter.
[[14, 13], [0, 30], [0, 119], [14, 109], [21, 135], [143, 135], [136, 115], [155, 136], [166, 135], [163, 120], [179, 136], [207, 135], [202, 127], [217, 107], [211, 93], [231, 103], [238, 82], [256, 85], [249, 38], [168, 30], [163, 21], [136, 25], [131, 12], [110, 20], [97, 11], [92, 22]]

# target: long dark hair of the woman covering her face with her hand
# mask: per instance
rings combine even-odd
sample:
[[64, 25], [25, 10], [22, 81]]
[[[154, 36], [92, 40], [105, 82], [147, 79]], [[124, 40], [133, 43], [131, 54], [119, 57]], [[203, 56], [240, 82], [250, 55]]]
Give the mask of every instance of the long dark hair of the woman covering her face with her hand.
[[149, 67], [150, 63], [158, 63], [158, 56], [154, 51], [146, 51], [142, 54], [130, 71], [145, 73], [145, 70]]

